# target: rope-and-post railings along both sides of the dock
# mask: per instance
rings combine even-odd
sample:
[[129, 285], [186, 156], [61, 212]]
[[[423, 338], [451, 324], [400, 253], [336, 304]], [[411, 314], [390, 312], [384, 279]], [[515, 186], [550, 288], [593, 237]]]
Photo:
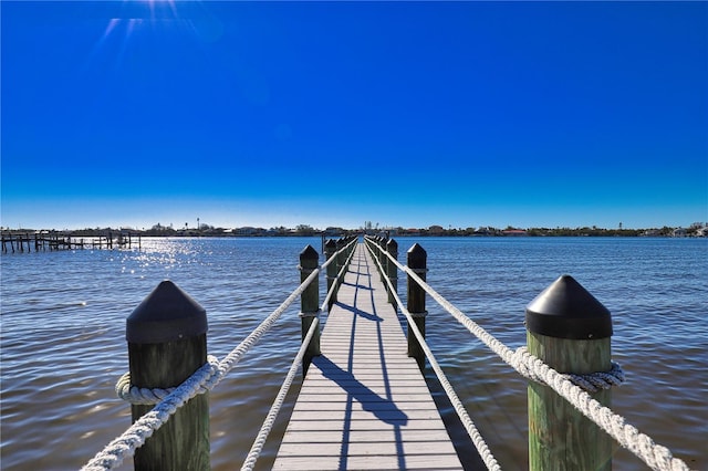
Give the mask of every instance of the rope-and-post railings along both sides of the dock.
[[[205, 310], [171, 282], [160, 283], [127, 320], [131, 370], [118, 380], [116, 393], [132, 402], [133, 425], [83, 469], [113, 469], [129, 457], [136, 470], [209, 469], [208, 391], [300, 296], [302, 345], [241, 468], [253, 469], [301, 363], [306, 369], [308, 357], [319, 352], [319, 314], [335, 299], [357, 241], [341, 239], [334, 248], [329, 241], [322, 265], [317, 265], [316, 251], [306, 247], [300, 254], [301, 284], [222, 360], [206, 353]], [[403, 265], [395, 241], [367, 237], [365, 243], [388, 289], [389, 302], [407, 320], [409, 356], [421, 368], [428, 360], [488, 469], [500, 467], [425, 342], [426, 294], [529, 379], [531, 470], [610, 469], [610, 437], [652, 469], [688, 470], [667, 448], [604, 406], [610, 388], [623, 379], [620, 366], [610, 359], [610, 312], [572, 278], [561, 276], [527, 306], [528, 345], [512, 350], [426, 283], [427, 254], [419, 244], [408, 250], [407, 265]], [[324, 270], [329, 290], [319, 303], [319, 275]], [[405, 306], [397, 293], [398, 270], [407, 276]], [[565, 360], [570, 363], [563, 364]], [[559, 397], [564, 400], [556, 400]], [[597, 428], [591, 421], [606, 435], [589, 431]]]

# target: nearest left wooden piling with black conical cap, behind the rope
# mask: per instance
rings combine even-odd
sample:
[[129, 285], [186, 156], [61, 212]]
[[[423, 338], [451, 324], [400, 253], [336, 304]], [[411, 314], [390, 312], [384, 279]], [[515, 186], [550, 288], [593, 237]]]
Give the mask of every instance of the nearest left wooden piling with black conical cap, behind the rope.
[[[126, 321], [131, 383], [179, 386], [207, 363], [207, 314], [170, 281], [163, 281]], [[135, 422], [154, 406], [133, 405]], [[135, 470], [209, 470], [209, 396], [179, 408], [135, 451]]]

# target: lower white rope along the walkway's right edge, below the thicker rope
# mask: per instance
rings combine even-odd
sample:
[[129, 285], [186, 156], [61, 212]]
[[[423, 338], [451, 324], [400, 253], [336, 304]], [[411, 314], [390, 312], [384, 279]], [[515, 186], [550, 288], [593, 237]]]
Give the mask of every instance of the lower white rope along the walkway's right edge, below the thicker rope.
[[[368, 250], [369, 250], [369, 252], [372, 251], [371, 248], [368, 248]], [[378, 260], [376, 260], [375, 257], [374, 257], [374, 260], [376, 261], [376, 264], [378, 265], [378, 269], [382, 270], [382, 273], [383, 273], [383, 266], [382, 266], [381, 262]], [[428, 347], [428, 344], [425, 342], [425, 337], [423, 336], [423, 334], [420, 333], [420, 329], [418, 328], [418, 326], [414, 322], [413, 316], [410, 315], [410, 312], [408, 312], [408, 310], [406, 307], [404, 307], [404, 304], [400, 301], [400, 297], [398, 296], [398, 293], [396, 293], [396, 290], [394, 290], [393, 283], [389, 280], [389, 278], [388, 276], [384, 276], [384, 280], [386, 281], [386, 284], [388, 285], [388, 290], [391, 291], [391, 293], [393, 294], [394, 299], [396, 300], [396, 303], [399, 306], [400, 312], [406, 316], [406, 320], [408, 320], [408, 328], [413, 332], [413, 334], [415, 335], [416, 339], [418, 341], [418, 344], [423, 348], [423, 352], [425, 353], [425, 356], [428, 358], [428, 362], [430, 363], [430, 366], [435, 370], [435, 374], [438, 377], [438, 380], [440, 381], [440, 385], [442, 385], [442, 389], [445, 390], [445, 394], [447, 395], [448, 399], [450, 400], [450, 404], [455, 408], [455, 411], [457, 412], [457, 416], [459, 417], [459, 419], [460, 419], [460, 421], [462, 423], [462, 427], [465, 427], [465, 430], [469, 435], [469, 438], [472, 440], [472, 443], [475, 444], [475, 448], [477, 449], [480, 458], [482, 459], [482, 461], [487, 465], [487, 469], [492, 470], [492, 471], [500, 471], [501, 467], [497, 462], [497, 459], [494, 458], [494, 456], [491, 453], [489, 447], [487, 446], [487, 442], [485, 442], [483, 437], [481, 436], [481, 433], [479, 432], [479, 430], [475, 426], [475, 422], [469, 417], [469, 414], [467, 414], [467, 410], [465, 409], [465, 405], [462, 405], [462, 401], [459, 399], [459, 397], [455, 393], [455, 389], [452, 388], [452, 385], [447, 379], [447, 376], [442, 371], [442, 368], [440, 367], [440, 365], [438, 364], [437, 359], [433, 355], [433, 352], [430, 350], [430, 347]]]

